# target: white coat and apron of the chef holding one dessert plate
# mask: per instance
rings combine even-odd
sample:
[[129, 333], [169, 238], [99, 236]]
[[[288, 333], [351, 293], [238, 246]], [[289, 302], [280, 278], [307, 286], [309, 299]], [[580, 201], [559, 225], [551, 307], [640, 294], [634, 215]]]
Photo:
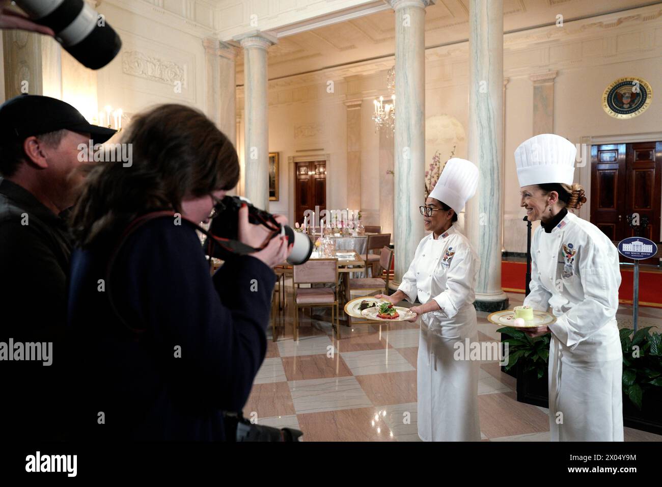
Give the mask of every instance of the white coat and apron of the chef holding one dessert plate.
[[531, 244], [530, 294], [547, 311], [551, 441], [623, 441], [622, 351], [616, 310], [618, 250], [596, 227], [568, 212]]

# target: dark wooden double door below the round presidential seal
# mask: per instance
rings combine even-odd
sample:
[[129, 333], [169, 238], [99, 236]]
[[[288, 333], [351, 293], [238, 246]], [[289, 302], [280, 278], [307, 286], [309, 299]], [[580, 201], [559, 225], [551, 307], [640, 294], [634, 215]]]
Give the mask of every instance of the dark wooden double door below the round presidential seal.
[[[648, 217], [641, 237], [659, 242], [662, 142], [594, 145], [591, 162], [591, 223], [621, 241], [635, 235], [626, 216], [639, 213]], [[657, 265], [659, 259], [641, 263]]]

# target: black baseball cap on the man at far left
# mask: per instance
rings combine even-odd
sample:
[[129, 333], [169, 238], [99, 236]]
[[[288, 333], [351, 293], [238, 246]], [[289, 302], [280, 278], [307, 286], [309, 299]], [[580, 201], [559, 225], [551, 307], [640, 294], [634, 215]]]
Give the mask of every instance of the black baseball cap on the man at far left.
[[91, 125], [69, 103], [48, 96], [18, 95], [0, 105], [0, 138], [3, 140], [24, 140], [62, 129], [89, 132], [98, 144], [103, 144], [117, 132]]

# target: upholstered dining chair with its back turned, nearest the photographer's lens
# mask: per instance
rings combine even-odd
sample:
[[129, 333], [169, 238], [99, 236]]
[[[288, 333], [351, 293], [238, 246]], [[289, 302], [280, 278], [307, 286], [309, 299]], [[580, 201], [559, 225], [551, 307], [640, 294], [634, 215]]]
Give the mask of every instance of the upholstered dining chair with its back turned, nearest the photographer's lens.
[[[333, 288], [299, 288], [299, 284], [333, 284]], [[331, 325], [340, 339], [338, 327], [338, 259], [311, 259], [294, 266], [294, 339], [299, 340], [299, 308], [331, 307]], [[334, 313], [335, 310], [335, 313]], [[312, 313], [311, 313], [312, 314]]]

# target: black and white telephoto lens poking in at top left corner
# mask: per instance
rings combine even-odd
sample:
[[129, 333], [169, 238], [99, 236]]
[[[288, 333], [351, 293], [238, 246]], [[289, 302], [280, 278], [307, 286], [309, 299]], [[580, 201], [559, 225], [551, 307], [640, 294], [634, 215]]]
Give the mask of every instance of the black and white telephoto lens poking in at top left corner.
[[83, 0], [14, 1], [33, 22], [52, 28], [60, 45], [86, 68], [103, 68], [122, 47], [117, 32]]

